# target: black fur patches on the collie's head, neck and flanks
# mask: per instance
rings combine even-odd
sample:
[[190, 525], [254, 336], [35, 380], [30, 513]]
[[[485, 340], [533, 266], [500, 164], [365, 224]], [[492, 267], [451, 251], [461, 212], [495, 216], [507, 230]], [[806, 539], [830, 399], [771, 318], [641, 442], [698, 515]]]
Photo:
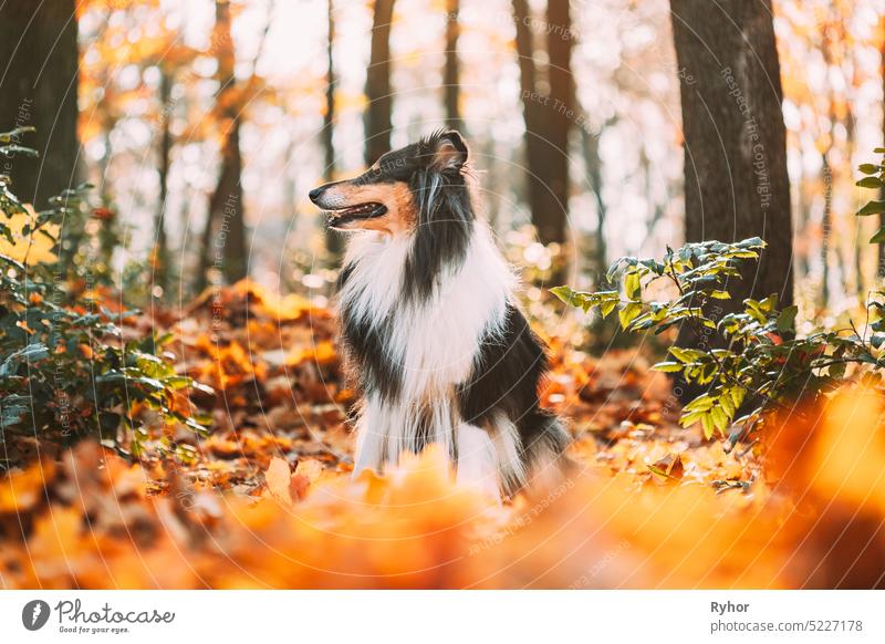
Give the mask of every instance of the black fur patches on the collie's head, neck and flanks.
[[[435, 150], [442, 141], [456, 149], [467, 146], [452, 131], [439, 131], [418, 143], [384, 155], [378, 164], [355, 181], [394, 183], [409, 186], [418, 211], [418, 227], [408, 256], [402, 293], [412, 301], [433, 297], [444, 271], [455, 270], [465, 260], [476, 216], [465, 178], [465, 168], [439, 167]], [[353, 267], [345, 266], [339, 288], [346, 283]], [[402, 375], [385, 355], [389, 324], [354, 319], [343, 311], [343, 340], [350, 355], [360, 365], [360, 384], [366, 393], [377, 393], [395, 401], [402, 391]], [[521, 439], [521, 457], [531, 467], [544, 455], [559, 457], [569, 443], [559, 419], [544, 412], [538, 389], [548, 371], [541, 340], [512, 303], [500, 332], [481, 339], [470, 378], [457, 388], [458, 407], [465, 422], [490, 427], [496, 414], [514, 423]], [[420, 409], [416, 409], [420, 414]], [[429, 435], [429, 429], [427, 432]], [[426, 442], [418, 440], [419, 446]], [[457, 455], [454, 455], [457, 458]], [[512, 494], [514, 488], [506, 489]]]

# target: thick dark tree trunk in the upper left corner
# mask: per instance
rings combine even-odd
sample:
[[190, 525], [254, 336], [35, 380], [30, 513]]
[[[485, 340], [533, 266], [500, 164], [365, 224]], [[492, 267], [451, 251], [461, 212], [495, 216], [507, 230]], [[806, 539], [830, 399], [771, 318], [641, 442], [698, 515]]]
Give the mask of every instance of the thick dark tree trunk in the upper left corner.
[[37, 127], [19, 143], [39, 159], [4, 160], [18, 196], [37, 208], [79, 183], [74, 0], [0, 3], [0, 131]]

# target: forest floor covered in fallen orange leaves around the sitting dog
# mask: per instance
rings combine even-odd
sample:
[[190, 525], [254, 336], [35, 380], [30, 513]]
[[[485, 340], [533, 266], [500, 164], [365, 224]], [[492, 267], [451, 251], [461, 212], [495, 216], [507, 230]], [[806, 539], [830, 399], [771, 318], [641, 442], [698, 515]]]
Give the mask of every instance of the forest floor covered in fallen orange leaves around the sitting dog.
[[192, 392], [210, 434], [155, 428], [136, 464], [94, 442], [8, 439], [0, 588], [852, 585], [860, 557], [834, 554], [833, 534], [885, 513], [821, 487], [831, 465], [792, 467], [826, 422], [777, 432], [767, 460], [754, 442], [727, 449], [678, 426], [641, 353], [593, 359], [556, 337], [543, 404], [568, 419], [580, 470], [559, 487], [499, 503], [455, 486], [433, 450], [354, 480], [330, 311], [241, 283], [127, 332], [157, 326], [216, 391]]

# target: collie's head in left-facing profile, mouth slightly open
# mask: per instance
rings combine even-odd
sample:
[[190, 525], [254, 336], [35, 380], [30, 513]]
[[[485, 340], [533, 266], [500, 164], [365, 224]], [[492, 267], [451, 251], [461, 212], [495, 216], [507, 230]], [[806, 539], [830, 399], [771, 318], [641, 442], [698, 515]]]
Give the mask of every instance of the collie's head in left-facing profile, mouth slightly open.
[[388, 152], [353, 179], [311, 190], [311, 201], [329, 211], [336, 230], [415, 230], [421, 208], [440, 186], [464, 185], [467, 144], [452, 129], [439, 131]]

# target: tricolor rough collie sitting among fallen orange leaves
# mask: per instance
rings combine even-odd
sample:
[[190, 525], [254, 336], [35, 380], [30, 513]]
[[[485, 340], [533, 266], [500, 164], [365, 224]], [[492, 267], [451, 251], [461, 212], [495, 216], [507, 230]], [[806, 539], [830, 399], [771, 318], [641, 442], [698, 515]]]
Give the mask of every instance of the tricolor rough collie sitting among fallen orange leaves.
[[467, 145], [436, 132], [311, 200], [350, 237], [342, 345], [363, 393], [354, 471], [439, 445], [459, 482], [504, 496], [559, 476], [568, 434], [539, 406], [546, 357], [473, 214]]

